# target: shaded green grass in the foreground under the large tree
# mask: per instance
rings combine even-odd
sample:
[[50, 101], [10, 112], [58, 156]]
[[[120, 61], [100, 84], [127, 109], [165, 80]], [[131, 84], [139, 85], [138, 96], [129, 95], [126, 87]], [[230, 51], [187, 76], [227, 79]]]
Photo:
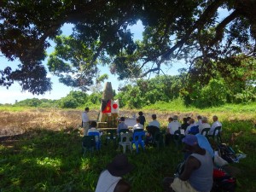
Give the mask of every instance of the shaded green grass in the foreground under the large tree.
[[[224, 142], [231, 132], [243, 131], [233, 148], [247, 154], [233, 164], [238, 174], [237, 192], [256, 190], [256, 137], [251, 121], [224, 121]], [[82, 155], [81, 137], [77, 131], [32, 130], [14, 143], [0, 145], [1, 192], [65, 192], [95, 191], [97, 179], [116, 154], [122, 153], [113, 143], [102, 145], [100, 151]], [[102, 138], [104, 141], [104, 138]], [[127, 156], [135, 169], [125, 176], [132, 192], [163, 191], [162, 179], [172, 177], [177, 163], [183, 159], [181, 147], [175, 144], [146, 148], [145, 152]]]

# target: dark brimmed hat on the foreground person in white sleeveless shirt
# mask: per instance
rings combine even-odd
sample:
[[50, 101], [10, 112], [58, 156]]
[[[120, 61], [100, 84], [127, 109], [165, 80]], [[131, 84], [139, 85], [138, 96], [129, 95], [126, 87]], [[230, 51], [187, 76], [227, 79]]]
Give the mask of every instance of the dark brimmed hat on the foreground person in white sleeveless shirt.
[[131, 172], [132, 168], [133, 166], [128, 162], [125, 154], [116, 155], [107, 166], [108, 172], [116, 177], [122, 177], [126, 173]]

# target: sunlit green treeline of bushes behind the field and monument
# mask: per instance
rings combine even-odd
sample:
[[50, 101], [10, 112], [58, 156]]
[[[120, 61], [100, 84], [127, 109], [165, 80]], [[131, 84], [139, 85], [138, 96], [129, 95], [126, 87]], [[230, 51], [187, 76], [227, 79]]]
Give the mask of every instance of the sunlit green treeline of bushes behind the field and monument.
[[[207, 84], [188, 81], [185, 75], [157, 76], [148, 80], [137, 80], [119, 89], [115, 99], [119, 99], [120, 108], [143, 108], [155, 102], [172, 102], [182, 99], [187, 106], [208, 108], [224, 103], [250, 103], [256, 101], [256, 87], [251, 82], [228, 82], [225, 79], [210, 79]], [[71, 91], [60, 100], [26, 99], [14, 106], [39, 108], [79, 108], [100, 106], [102, 91], [87, 94], [83, 91]]]

